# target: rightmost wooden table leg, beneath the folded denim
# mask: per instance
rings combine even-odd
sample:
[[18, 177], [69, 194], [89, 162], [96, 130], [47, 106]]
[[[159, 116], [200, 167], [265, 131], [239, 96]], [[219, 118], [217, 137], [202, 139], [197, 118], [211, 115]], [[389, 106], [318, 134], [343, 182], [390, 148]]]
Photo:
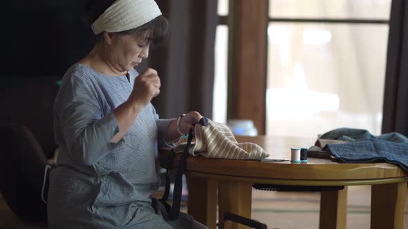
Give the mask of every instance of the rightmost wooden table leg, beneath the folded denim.
[[406, 193], [406, 182], [371, 186], [370, 228], [402, 229]]

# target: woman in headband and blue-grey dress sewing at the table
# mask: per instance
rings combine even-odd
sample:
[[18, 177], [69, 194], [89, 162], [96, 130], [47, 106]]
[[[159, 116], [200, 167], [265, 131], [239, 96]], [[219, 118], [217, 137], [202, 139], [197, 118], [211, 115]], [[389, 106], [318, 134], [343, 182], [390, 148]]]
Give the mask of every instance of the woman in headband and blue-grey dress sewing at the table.
[[158, 189], [158, 147], [176, 141], [198, 112], [159, 119], [150, 101], [158, 72], [133, 67], [168, 36], [154, 0], [88, 4], [93, 50], [69, 68], [55, 99], [57, 167], [50, 172], [51, 228], [206, 228], [181, 214], [167, 218]]

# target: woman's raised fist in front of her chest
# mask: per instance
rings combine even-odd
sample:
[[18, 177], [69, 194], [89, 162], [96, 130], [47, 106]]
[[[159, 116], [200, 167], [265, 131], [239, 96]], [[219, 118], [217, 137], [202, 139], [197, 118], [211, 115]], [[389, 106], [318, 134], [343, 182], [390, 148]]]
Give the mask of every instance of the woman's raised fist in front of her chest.
[[135, 103], [142, 103], [143, 106], [146, 106], [153, 97], [160, 93], [160, 86], [160, 78], [156, 70], [147, 68], [136, 77], [129, 100]]

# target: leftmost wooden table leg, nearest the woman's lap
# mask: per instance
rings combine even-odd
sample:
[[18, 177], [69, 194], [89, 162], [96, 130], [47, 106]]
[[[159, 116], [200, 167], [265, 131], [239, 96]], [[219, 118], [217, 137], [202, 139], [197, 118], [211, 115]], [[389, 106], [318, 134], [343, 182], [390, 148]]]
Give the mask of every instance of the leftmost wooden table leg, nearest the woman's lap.
[[187, 177], [187, 212], [210, 229], [216, 228], [217, 181]]

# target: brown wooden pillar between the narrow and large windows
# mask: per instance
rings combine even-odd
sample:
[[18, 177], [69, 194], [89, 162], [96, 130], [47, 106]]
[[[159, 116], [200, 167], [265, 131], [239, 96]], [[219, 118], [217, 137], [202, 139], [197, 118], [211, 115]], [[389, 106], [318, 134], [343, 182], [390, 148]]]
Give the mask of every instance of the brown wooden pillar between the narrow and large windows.
[[230, 7], [228, 118], [250, 119], [265, 133], [267, 0], [234, 0]]

